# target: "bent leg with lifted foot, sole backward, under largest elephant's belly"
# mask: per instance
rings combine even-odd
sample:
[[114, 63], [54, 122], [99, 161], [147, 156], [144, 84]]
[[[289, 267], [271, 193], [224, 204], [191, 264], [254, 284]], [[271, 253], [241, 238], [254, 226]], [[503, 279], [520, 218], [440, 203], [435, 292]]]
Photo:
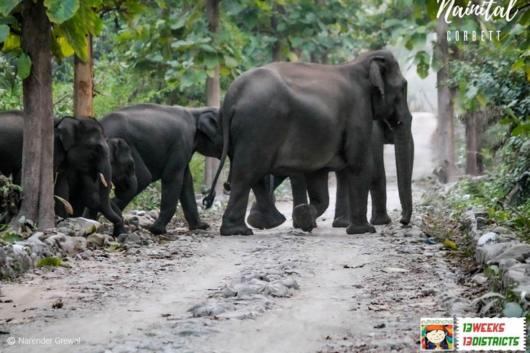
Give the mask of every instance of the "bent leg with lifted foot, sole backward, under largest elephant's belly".
[[316, 228], [317, 217], [321, 216], [329, 205], [327, 169], [306, 174], [309, 204], [297, 205], [293, 210], [293, 226], [306, 232]]

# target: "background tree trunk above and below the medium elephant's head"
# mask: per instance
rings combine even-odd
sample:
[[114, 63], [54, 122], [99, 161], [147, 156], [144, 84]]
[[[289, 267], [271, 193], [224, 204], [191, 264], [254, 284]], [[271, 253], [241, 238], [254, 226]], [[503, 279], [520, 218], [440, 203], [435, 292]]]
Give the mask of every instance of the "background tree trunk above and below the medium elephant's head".
[[[208, 28], [212, 34], [219, 29], [219, 0], [206, 0], [206, 17], [208, 18]], [[213, 77], [206, 78], [206, 105], [208, 107], [219, 107], [221, 105], [221, 84], [219, 81], [219, 64], [215, 66]], [[211, 185], [215, 172], [219, 167], [219, 159], [206, 157], [204, 162], [204, 183]], [[215, 192], [223, 192], [222, 177], [219, 177], [215, 184]]]

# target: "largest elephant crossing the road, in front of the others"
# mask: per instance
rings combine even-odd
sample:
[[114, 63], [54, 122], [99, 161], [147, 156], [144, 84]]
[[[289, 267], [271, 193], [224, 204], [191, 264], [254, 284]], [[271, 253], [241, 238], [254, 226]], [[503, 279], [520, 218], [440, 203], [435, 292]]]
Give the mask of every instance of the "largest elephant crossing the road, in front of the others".
[[[366, 219], [374, 120], [386, 121], [394, 132], [401, 223], [406, 224], [412, 214], [412, 115], [406, 80], [391, 52], [368, 52], [342, 65], [272, 63], [241, 74], [222, 108], [224, 145], [213, 185], [228, 154], [233, 185], [221, 234], [252, 234], [244, 221], [251, 189], [258, 202], [277, 212], [264, 185], [268, 174], [306, 174], [315, 198], [293, 218], [300, 224], [320, 216], [329, 201], [328, 170], [337, 170], [349, 186], [346, 232], [375, 232]], [[210, 191], [204, 203], [210, 205], [213, 196]]]

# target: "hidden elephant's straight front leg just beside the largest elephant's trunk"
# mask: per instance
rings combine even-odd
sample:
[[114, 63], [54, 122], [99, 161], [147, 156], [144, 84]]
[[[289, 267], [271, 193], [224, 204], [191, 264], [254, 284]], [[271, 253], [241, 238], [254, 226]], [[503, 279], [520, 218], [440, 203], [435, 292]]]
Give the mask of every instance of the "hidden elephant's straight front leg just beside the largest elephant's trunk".
[[391, 223], [386, 213], [386, 175], [384, 172], [384, 121], [374, 121], [371, 139], [373, 174], [370, 185], [372, 198], [372, 224]]

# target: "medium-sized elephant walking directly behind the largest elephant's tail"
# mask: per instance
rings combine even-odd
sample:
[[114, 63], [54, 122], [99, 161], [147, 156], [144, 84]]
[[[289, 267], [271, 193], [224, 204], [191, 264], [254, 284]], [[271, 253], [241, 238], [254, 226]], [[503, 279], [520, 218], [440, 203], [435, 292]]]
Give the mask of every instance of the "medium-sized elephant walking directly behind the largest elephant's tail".
[[[121, 108], [101, 119], [108, 137], [124, 139], [135, 160], [137, 191], [161, 180], [160, 215], [150, 226], [153, 234], [166, 233], [180, 199], [190, 230], [206, 229], [199, 219], [189, 163], [194, 152], [218, 158], [222, 152], [219, 110], [138, 104]], [[135, 196], [135, 195], [133, 195]], [[114, 200], [124, 210], [133, 196]]]

